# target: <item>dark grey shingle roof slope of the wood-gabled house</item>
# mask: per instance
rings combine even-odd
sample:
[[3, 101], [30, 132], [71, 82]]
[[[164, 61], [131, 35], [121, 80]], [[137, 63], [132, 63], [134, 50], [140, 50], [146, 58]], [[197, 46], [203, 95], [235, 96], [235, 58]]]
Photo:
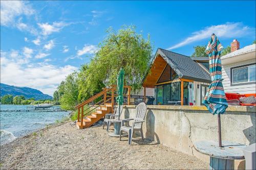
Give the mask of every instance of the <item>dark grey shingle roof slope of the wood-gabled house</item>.
[[158, 54], [175, 70], [180, 78], [207, 83], [211, 82], [209, 73], [190, 57], [162, 48], [158, 48], [156, 55]]

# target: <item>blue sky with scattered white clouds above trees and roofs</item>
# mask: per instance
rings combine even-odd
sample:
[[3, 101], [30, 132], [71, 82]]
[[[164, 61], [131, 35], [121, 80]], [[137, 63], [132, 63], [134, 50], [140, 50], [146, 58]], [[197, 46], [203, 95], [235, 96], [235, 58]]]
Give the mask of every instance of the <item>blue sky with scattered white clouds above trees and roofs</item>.
[[190, 56], [215, 33], [255, 40], [255, 1], [1, 1], [1, 83], [52, 95], [90, 62], [106, 29], [134, 25], [154, 47]]

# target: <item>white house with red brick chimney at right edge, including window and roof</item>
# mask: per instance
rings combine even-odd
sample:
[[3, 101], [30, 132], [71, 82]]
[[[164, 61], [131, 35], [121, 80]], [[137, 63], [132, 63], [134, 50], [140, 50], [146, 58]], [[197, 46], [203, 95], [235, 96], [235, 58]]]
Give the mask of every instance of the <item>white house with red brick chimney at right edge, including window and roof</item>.
[[231, 53], [221, 57], [225, 92], [256, 93], [255, 48], [256, 44], [252, 44], [240, 49], [240, 43], [236, 39], [231, 42]]

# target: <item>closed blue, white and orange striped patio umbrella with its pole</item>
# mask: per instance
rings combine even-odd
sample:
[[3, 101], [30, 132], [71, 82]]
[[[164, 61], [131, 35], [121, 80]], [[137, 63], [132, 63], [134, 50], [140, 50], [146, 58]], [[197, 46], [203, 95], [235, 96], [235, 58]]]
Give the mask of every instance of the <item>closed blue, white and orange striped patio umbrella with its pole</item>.
[[222, 147], [220, 114], [223, 114], [228, 107], [221, 77], [222, 65], [220, 55], [222, 48], [223, 46], [217, 36], [212, 34], [205, 50], [205, 53], [209, 56], [211, 84], [203, 101], [203, 104], [212, 114], [218, 114], [220, 147]]

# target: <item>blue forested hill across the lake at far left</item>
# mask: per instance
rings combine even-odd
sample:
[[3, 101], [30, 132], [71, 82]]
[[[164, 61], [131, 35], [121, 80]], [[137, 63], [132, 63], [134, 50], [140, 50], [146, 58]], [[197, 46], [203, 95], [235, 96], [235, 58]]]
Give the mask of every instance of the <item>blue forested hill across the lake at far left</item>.
[[7, 84], [0, 83], [0, 96], [4, 96], [6, 94], [11, 94], [13, 96], [16, 95], [24, 95], [26, 99], [34, 98], [35, 100], [46, 100], [52, 99], [52, 96], [48, 94], [44, 94], [39, 90], [29, 88], [29, 87], [17, 87], [10, 86]]

